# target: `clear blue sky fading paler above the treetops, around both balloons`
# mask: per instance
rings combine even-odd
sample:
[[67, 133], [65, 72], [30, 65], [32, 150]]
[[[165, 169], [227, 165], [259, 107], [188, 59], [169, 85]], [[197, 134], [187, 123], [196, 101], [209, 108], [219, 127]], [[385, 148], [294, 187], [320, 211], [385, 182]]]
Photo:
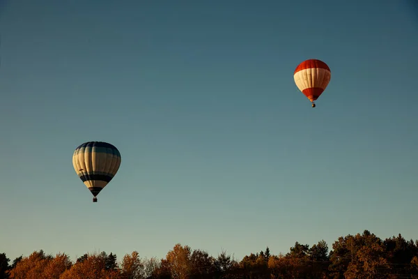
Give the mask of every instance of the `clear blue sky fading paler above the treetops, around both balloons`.
[[[417, 239], [408, 3], [3, 1], [0, 252]], [[311, 58], [332, 70], [315, 109], [293, 81]], [[122, 164], [93, 204], [72, 153], [94, 140]]]

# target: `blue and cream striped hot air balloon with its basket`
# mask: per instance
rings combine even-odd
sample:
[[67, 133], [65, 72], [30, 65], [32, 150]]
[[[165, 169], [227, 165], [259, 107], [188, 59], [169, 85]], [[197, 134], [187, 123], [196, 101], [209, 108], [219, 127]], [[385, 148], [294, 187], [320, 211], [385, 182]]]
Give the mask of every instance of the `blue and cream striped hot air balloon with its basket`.
[[114, 178], [121, 166], [121, 153], [107, 142], [85, 142], [75, 149], [72, 165], [93, 194], [93, 202], [98, 202], [97, 195]]

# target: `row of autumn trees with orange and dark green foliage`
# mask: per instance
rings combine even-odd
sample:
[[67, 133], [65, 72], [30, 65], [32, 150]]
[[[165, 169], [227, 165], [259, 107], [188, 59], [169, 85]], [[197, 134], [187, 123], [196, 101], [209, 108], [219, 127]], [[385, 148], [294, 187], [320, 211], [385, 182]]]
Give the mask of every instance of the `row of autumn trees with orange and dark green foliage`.
[[106, 252], [85, 254], [75, 262], [65, 253], [46, 255], [43, 250], [10, 263], [0, 254], [0, 279], [287, 279], [287, 278], [418, 278], [418, 241], [401, 234], [385, 240], [365, 230], [339, 237], [329, 251], [325, 241], [314, 246], [296, 242], [290, 251], [270, 255], [269, 248], [238, 261], [222, 252], [176, 244], [163, 259], [142, 259], [137, 251], [118, 263]]

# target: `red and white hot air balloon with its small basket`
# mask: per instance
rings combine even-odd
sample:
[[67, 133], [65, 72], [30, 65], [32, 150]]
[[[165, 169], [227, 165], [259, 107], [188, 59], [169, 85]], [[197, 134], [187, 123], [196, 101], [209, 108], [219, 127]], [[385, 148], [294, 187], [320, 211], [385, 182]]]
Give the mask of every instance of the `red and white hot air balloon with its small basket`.
[[316, 107], [314, 100], [318, 99], [331, 80], [331, 70], [328, 65], [318, 59], [309, 59], [300, 63], [293, 74], [297, 88]]

